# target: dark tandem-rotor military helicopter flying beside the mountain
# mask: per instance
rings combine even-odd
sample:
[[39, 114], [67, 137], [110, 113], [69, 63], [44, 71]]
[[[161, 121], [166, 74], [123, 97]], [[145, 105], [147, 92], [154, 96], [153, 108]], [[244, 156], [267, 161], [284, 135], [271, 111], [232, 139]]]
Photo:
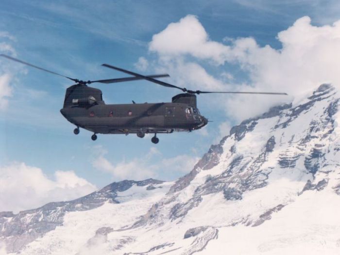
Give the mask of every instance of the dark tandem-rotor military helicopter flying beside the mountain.
[[[107, 80], [78, 80], [70, 78], [45, 68], [21, 61], [14, 57], [0, 54], [1, 57], [25, 64], [36, 69], [58, 75], [75, 82], [67, 88], [61, 114], [76, 126], [74, 134], [79, 134], [80, 128], [93, 132], [91, 139], [97, 140], [97, 134], [136, 134], [143, 138], [145, 134], [154, 134], [151, 141], [158, 143], [157, 134], [172, 133], [200, 129], [208, 124], [208, 119], [201, 115], [197, 108], [197, 97], [200, 94], [265, 94], [287, 95], [286, 93], [272, 92], [233, 92], [233, 91], [200, 91], [188, 90], [155, 78], [169, 77], [168, 74], [144, 76], [110, 64], [102, 66], [114, 69], [131, 77]], [[91, 83], [116, 83], [131, 80], [148, 80], [159, 85], [176, 88], [183, 93], [173, 96], [167, 103], [133, 103], [131, 104], [105, 104], [102, 91], [88, 86]]]

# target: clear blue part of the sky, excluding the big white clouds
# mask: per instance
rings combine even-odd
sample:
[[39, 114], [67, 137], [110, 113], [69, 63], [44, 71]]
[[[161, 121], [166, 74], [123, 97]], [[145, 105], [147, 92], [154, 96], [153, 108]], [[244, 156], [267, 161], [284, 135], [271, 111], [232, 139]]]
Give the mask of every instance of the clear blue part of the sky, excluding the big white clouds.
[[[202, 26], [208, 34], [208, 42], [230, 45], [238, 38], [251, 37], [258, 48], [269, 45], [280, 52], [283, 46], [278, 33], [293, 26], [297, 19], [309, 16], [311, 26], [332, 25], [339, 19], [339, 11], [337, 1], [322, 0], [2, 0], [0, 50], [82, 80], [125, 76], [100, 66], [108, 63], [143, 74], [165, 71], [172, 77], [168, 82], [182, 82], [187, 88], [195, 89], [196, 84], [190, 82], [190, 77], [178, 74], [177, 64], [181, 63], [186, 67], [188, 64], [202, 67], [209, 79], [226, 81], [225, 88], [238, 90], [243, 87], [237, 84], [242, 83], [252, 89], [259, 80], [254, 82], [254, 70], [245, 67], [249, 63], [239, 59], [217, 63], [214, 56], [206, 57], [202, 52], [190, 50], [181, 56], [178, 52], [171, 53], [169, 61], [162, 48], [150, 48], [153, 35], [167, 29], [170, 23], [193, 15], [191, 20], [187, 18], [188, 22]], [[146, 67], [138, 67], [140, 57], [147, 61]], [[8, 100], [6, 109], [0, 112], [0, 166], [24, 162], [41, 169], [49, 179], [54, 178], [56, 171], [73, 171], [96, 187], [124, 178], [173, 180], [189, 172], [189, 166], [242, 119], [244, 114], [236, 117], [238, 110], [252, 112], [251, 106], [245, 104], [241, 104], [242, 109], [226, 109], [227, 98], [199, 96], [201, 113], [214, 121], [203, 131], [159, 135], [157, 145], [150, 142], [151, 137], [139, 139], [136, 135], [99, 135], [93, 142], [91, 133], [86, 130], [75, 136], [74, 127], [59, 112], [65, 89], [71, 82], [20, 64], [0, 61], [0, 74], [11, 74], [8, 86], [12, 90], [11, 95], [5, 97]], [[205, 85], [197, 86], [202, 89]], [[166, 102], [179, 92], [147, 81], [94, 86], [103, 91], [106, 103]], [[285, 91], [284, 87], [273, 89]], [[256, 98], [256, 105], [267, 100]], [[266, 108], [268, 105], [261, 110]], [[101, 162], [106, 166], [98, 166]], [[119, 174], [117, 171], [124, 172], [124, 167], [129, 170]]]

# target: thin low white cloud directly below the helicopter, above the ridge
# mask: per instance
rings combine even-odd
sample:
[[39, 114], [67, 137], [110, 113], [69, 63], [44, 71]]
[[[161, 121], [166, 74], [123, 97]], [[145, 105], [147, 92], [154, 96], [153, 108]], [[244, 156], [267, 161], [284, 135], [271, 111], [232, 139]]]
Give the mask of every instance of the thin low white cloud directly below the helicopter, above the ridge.
[[[199, 160], [189, 155], [179, 155], [173, 158], [164, 158], [155, 148], [151, 147], [149, 152], [141, 158], [130, 160], [122, 159], [112, 162], [107, 159], [108, 152], [97, 147], [97, 154], [92, 159], [92, 166], [102, 172], [111, 174], [115, 179], [134, 179], [157, 177], [160, 171], [171, 171], [172, 173], [187, 173]], [[161, 160], [158, 160], [162, 158]]]

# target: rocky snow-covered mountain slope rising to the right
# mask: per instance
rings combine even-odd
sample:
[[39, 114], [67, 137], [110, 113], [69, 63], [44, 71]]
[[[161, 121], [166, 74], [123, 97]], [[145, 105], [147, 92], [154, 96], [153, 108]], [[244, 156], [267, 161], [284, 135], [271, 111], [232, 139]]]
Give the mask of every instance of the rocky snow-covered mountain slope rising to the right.
[[340, 94], [233, 127], [175, 182], [122, 181], [0, 213], [17, 254], [340, 254]]

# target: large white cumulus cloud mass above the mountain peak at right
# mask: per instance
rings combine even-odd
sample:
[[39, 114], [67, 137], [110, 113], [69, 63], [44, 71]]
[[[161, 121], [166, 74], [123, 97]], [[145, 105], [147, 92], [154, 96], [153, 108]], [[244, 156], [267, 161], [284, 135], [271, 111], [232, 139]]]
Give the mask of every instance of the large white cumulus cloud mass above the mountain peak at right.
[[[311, 24], [309, 17], [299, 18], [287, 30], [278, 33], [280, 49], [269, 45], [261, 47], [251, 37], [226, 38], [223, 42], [212, 41], [198, 18], [188, 15], [153, 35], [149, 50], [157, 54], [158, 64], [174, 71], [175, 75], [170, 72], [171, 76], [177, 76], [182, 83], [193, 84], [194, 77], [201, 77], [197, 81], [201, 88], [290, 95], [224, 95], [224, 99], [217, 96], [215, 101], [220, 109], [225, 109], [229, 117], [238, 121], [260, 114], [275, 104], [297, 100], [323, 82], [340, 84], [340, 21], [317, 27]], [[237, 65], [249, 77], [249, 82], [240, 82], [229, 70], [213, 77], [199, 64], [202, 60], [212, 67]], [[173, 67], [176, 65], [179, 68]], [[182, 72], [188, 66], [194, 71]]]

